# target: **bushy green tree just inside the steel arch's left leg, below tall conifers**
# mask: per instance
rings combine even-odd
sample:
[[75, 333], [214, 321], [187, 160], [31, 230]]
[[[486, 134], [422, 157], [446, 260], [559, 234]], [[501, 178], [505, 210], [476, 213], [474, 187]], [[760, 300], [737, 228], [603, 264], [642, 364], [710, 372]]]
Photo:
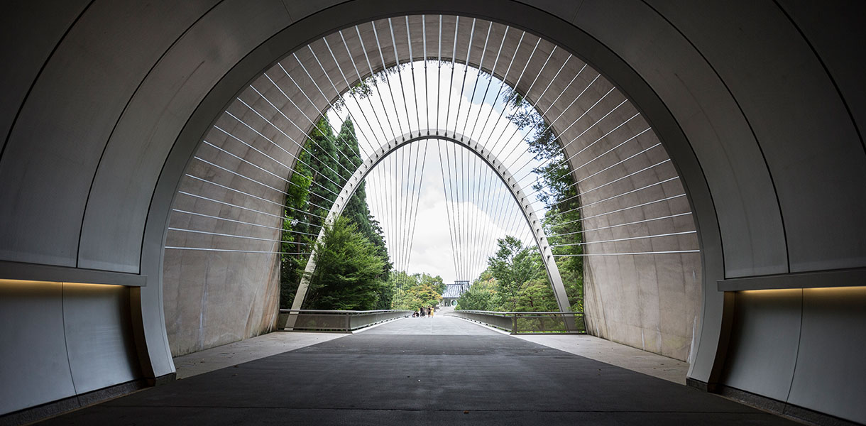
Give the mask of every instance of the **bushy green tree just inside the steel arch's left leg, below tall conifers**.
[[316, 243], [316, 268], [309, 276], [307, 309], [369, 310], [386, 286], [381, 279], [385, 261], [358, 231], [358, 225], [338, 217], [325, 226]]

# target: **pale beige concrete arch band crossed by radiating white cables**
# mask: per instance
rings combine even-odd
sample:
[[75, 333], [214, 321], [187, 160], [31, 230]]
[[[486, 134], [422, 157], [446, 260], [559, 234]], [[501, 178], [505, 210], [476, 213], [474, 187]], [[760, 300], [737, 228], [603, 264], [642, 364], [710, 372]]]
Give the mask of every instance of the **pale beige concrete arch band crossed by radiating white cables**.
[[[410, 29], [414, 30], [411, 33], [411, 48], [405, 37], [397, 38], [397, 55], [402, 61], [410, 57], [410, 50], [415, 60], [421, 59], [423, 55], [421, 20], [421, 16], [410, 16]], [[427, 41], [431, 48], [437, 45], [435, 35], [439, 27], [438, 16], [426, 16], [425, 20]], [[404, 20], [394, 19], [390, 24], [397, 34], [406, 34]], [[371, 58], [379, 57], [378, 47], [381, 44], [384, 59], [372, 62], [374, 70], [396, 63], [391, 38], [380, 36], [377, 42], [372, 25], [378, 28], [380, 35], [390, 31], [387, 20], [361, 24], [359, 34], [346, 31], [346, 43], [352, 52], [356, 52], [353, 56], [343, 48], [343, 39], [338, 34], [326, 35], [332, 48], [328, 48], [322, 40], [315, 40], [310, 43], [309, 49], [301, 48], [297, 52], [300, 62], [293, 55], [288, 55], [279, 64], [260, 74], [251, 87], [246, 87], [238, 99], [226, 107], [225, 112], [216, 118], [218, 128], [211, 127], [204, 134], [203, 139], [207, 144], [197, 147], [194, 155], [198, 159], [191, 161], [185, 171], [187, 176], [181, 178], [174, 205], [176, 210], [181, 211], [171, 213], [171, 229], [167, 234], [166, 246], [278, 251], [274, 249], [273, 242], [177, 229], [253, 236], [264, 240], [279, 239], [277, 229], [281, 229], [284, 194], [274, 188], [286, 186], [281, 179], [288, 177], [290, 171], [284, 165], [294, 165], [294, 156], [301, 152], [297, 142], [304, 140], [306, 129], [312, 126], [308, 117], [316, 117], [320, 111], [329, 108], [331, 99], [326, 96], [338, 96], [332, 82], [337, 89], [345, 90], [346, 83], [340, 70], [348, 73], [350, 81], [357, 81], [369, 73], [365, 56], [357, 54], [362, 50], [360, 39], [364, 40], [363, 46]], [[442, 25], [443, 58], [449, 59], [454, 55], [461, 60], [469, 58], [473, 66], [481, 65], [504, 78], [525, 94], [540, 113], [546, 113], [547, 122], [552, 123], [560, 142], [567, 144], [564, 152], [570, 158], [574, 180], [579, 181], [578, 193], [582, 194], [580, 201], [591, 204], [582, 210], [584, 216], [593, 216], [583, 222], [583, 229], [606, 228], [585, 232], [585, 241], [590, 242], [585, 246], [587, 253], [598, 255], [698, 248], [695, 234], [595, 243], [695, 231], [691, 216], [658, 219], [688, 213], [690, 208], [686, 197], [631, 208], [665, 197], [682, 196], [684, 190], [678, 179], [658, 184], [662, 180], [676, 178], [677, 171], [671, 162], [664, 163], [669, 160], [669, 155], [659, 145], [659, 138], [653, 131], [643, 132], [631, 139], [649, 128], [650, 124], [643, 115], [637, 114], [637, 107], [615, 84], [599, 76], [598, 71], [586, 66], [584, 61], [562, 48], [555, 48], [553, 42], [541, 40], [538, 47], [533, 49], [531, 47], [536, 38], [527, 34], [527, 39], [521, 43], [520, 32], [514, 28], [506, 31], [507, 26], [501, 23], [492, 25], [489, 42], [480, 34], [473, 38], [471, 55], [466, 52], [470, 48], [467, 35], [472, 31], [472, 22], [467, 19], [459, 21], [456, 51], [453, 49], [456, 16], [443, 16]], [[480, 22], [478, 25], [485, 27], [487, 23]], [[503, 36], [504, 44], [499, 48]], [[487, 60], [481, 62], [485, 46]], [[490, 58], [497, 54], [500, 55], [501, 65], [491, 70], [489, 68], [492, 68], [493, 61]], [[548, 55], [550, 65], [542, 68], [545, 63], [543, 59]], [[520, 79], [520, 73], [505, 73], [504, 64], [511, 61], [512, 56], [515, 64], [528, 62], [524, 74], [538, 75], [536, 84], [533, 85], [535, 78]], [[322, 67], [318, 61], [322, 61]], [[354, 73], [356, 67], [360, 75]], [[520, 66], [515, 65], [514, 68], [520, 69]], [[293, 75], [294, 80], [286, 72]], [[295, 82], [300, 83], [300, 86]], [[546, 89], [548, 83], [550, 86]], [[317, 87], [325, 93], [320, 93]], [[312, 102], [305, 100], [293, 103], [287, 99], [287, 95], [294, 99], [309, 96]], [[356, 126], [365, 127], [362, 123]], [[521, 144], [518, 139], [512, 143]], [[490, 143], [487, 148], [491, 149], [493, 145]], [[505, 152], [494, 154], [510, 154], [512, 150], [501, 151]], [[521, 151], [522, 148], [517, 150], [518, 153]], [[506, 165], [512, 164], [510, 157], [499, 159]], [[522, 162], [518, 162], [514, 168], [519, 165]], [[627, 177], [653, 165], [657, 166]], [[507, 175], [508, 172], [504, 173]], [[525, 171], [510, 172], [522, 177]], [[255, 184], [251, 179], [262, 184]], [[638, 190], [652, 184], [656, 186]], [[621, 194], [624, 195], [617, 197]], [[607, 228], [646, 219], [657, 220]], [[539, 242], [544, 241], [542, 236], [537, 238]], [[540, 248], [542, 252], [550, 249], [544, 243], [540, 244]], [[200, 351], [267, 332], [268, 320], [272, 318], [268, 316], [267, 308], [259, 306], [270, 307], [277, 300], [275, 276], [278, 276], [278, 257], [268, 254], [166, 250], [163, 299], [171, 353], [177, 356]], [[591, 333], [645, 351], [680, 360], [688, 359], [701, 306], [700, 254], [591, 256], [585, 258], [585, 264], [585, 311]], [[558, 280], [555, 276], [559, 275], [558, 271], [549, 273], [553, 281]], [[556, 293], [559, 300], [565, 300], [564, 291], [556, 290]], [[237, 303], [237, 300], [241, 302]], [[250, 306], [254, 308], [249, 309]], [[560, 306], [560, 309], [564, 307]]]

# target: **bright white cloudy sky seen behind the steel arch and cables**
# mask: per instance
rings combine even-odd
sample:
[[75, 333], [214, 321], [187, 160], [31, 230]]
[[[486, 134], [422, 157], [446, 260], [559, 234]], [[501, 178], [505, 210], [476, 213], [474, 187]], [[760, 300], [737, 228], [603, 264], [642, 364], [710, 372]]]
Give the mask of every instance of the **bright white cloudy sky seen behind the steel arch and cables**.
[[[345, 107], [327, 114], [332, 126], [339, 128], [343, 119], [352, 118], [360, 145], [370, 153], [395, 135], [399, 139], [418, 128], [426, 132], [438, 122], [449, 134], [471, 136], [491, 150], [510, 165], [524, 191], [532, 193], [531, 169], [540, 162], [526, 151], [526, 131], [507, 120], [511, 109], [504, 104], [501, 81], [491, 81], [488, 74], [479, 77], [475, 68], [460, 64], [452, 77], [449, 62], [442, 68], [428, 62], [426, 78], [423, 62], [413, 66], [414, 74], [407, 64], [398, 74], [389, 74], [388, 81], [377, 81], [365, 99], [346, 94]], [[512, 70], [512, 75], [519, 72]], [[534, 76], [522, 78], [532, 83]], [[541, 81], [534, 84], [535, 89], [545, 88]], [[404, 145], [379, 163], [366, 183], [367, 202], [385, 230], [397, 269], [441, 275], [445, 282], [472, 280], [486, 268], [496, 238], [511, 235], [531, 242], [506, 186], [480, 158], [450, 141]], [[543, 215], [541, 203], [536, 201], [533, 208]]]

